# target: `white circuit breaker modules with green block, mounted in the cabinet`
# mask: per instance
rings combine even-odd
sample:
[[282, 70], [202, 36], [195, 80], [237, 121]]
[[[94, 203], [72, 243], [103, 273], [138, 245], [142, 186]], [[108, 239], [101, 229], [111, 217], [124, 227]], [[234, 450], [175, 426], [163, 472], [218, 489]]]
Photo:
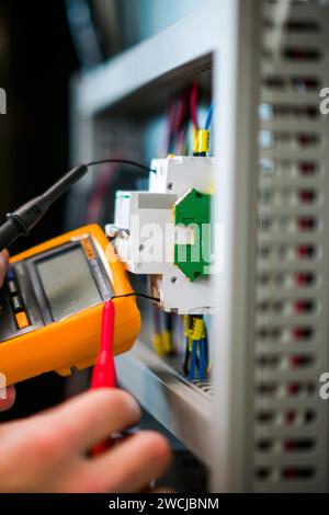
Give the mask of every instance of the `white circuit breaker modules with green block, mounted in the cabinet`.
[[214, 159], [156, 159], [151, 169], [149, 191], [116, 193], [118, 256], [128, 271], [150, 276], [166, 311], [209, 313]]

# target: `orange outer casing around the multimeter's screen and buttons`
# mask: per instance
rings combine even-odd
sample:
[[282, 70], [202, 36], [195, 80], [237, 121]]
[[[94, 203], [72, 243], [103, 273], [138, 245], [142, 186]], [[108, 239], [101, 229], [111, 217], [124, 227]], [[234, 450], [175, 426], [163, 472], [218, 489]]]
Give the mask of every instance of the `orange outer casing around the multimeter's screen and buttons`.
[[[104, 263], [106, 260], [114, 295], [132, 293], [124, 265], [116, 258], [112, 244], [98, 225], [86, 226], [54, 238], [15, 255], [10, 262], [32, 258], [72, 239], [82, 239], [83, 236], [92, 239], [99, 254], [103, 252], [102, 261]], [[121, 354], [132, 347], [139, 333], [140, 313], [134, 297], [117, 298], [114, 302], [114, 354]], [[7, 385], [52, 370], [68, 376], [72, 367], [80, 370], [93, 365], [99, 351], [103, 304], [0, 342], [0, 373], [4, 374]]]

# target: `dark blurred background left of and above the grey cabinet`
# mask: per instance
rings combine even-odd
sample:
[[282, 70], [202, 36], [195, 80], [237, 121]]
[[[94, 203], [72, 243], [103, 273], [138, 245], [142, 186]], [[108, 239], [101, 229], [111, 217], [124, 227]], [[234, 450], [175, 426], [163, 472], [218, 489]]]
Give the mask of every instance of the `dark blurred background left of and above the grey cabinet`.
[[[71, 164], [70, 81], [188, 14], [200, 0], [0, 1], [0, 217], [43, 192]], [[136, 171], [135, 171], [136, 174]], [[125, 184], [129, 187], [129, 174]], [[115, 190], [115, 183], [112, 184]], [[16, 253], [77, 227], [67, 220], [67, 199], [35, 228]], [[91, 214], [92, 216], [92, 214]], [[89, 220], [88, 220], [89, 221]], [[16, 386], [14, 408], [1, 420], [25, 416], [64, 397], [56, 374]]]

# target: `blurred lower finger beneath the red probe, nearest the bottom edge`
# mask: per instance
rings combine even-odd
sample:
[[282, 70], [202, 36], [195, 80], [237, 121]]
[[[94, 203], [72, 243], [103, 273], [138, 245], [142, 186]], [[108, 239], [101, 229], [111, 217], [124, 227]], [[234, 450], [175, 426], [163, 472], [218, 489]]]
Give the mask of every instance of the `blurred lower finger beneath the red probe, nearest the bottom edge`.
[[169, 445], [161, 435], [138, 433], [90, 461], [91, 491], [139, 492], [162, 476], [170, 461]]

